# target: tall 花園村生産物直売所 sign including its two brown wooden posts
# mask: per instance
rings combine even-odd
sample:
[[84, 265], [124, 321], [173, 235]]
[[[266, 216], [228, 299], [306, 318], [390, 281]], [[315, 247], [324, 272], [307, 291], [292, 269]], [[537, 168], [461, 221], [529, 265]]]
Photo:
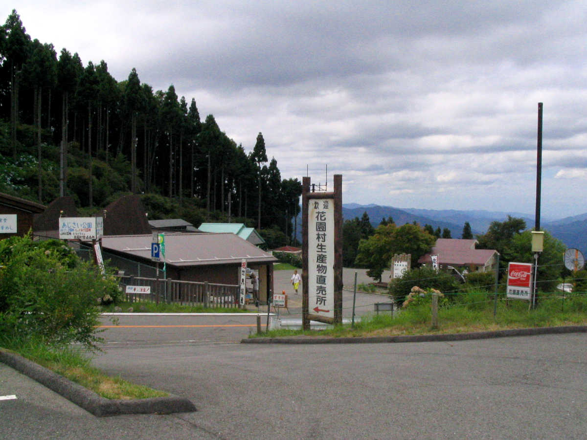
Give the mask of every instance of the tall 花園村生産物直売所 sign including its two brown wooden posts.
[[302, 180], [302, 326], [342, 324], [342, 175], [333, 192], [311, 192]]

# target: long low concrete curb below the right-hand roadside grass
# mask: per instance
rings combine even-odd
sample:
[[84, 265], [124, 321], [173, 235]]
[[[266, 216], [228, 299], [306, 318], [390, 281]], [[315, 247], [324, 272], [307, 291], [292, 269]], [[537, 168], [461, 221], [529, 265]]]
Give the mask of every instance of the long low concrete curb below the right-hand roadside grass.
[[587, 333], [587, 326], [535, 327], [531, 329], [511, 329], [494, 331], [474, 331], [472, 333], [411, 334], [402, 336], [372, 337], [314, 337], [286, 336], [278, 338], [251, 338], [241, 340], [241, 344], [375, 344], [403, 342], [465, 341], [471, 339], [490, 339], [511, 336], [533, 336], [537, 334]]

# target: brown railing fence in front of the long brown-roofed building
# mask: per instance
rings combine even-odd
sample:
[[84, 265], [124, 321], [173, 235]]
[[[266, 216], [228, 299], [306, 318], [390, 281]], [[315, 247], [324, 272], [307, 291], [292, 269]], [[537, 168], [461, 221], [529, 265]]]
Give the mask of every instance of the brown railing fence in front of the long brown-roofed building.
[[[122, 275], [120, 286], [126, 300], [131, 303], [149, 301], [203, 307], [238, 307], [238, 285]], [[126, 286], [149, 287], [149, 292], [138, 288], [127, 292]]]

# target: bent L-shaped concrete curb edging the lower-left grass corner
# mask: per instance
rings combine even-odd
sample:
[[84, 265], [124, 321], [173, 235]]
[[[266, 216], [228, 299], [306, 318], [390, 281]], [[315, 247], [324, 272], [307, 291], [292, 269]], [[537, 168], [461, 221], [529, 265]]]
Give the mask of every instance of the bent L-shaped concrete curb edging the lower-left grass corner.
[[183, 397], [154, 397], [136, 400], [110, 400], [82, 385], [42, 367], [19, 354], [0, 348], [0, 362], [45, 385], [96, 417], [122, 414], [170, 414], [196, 411], [194, 404]]

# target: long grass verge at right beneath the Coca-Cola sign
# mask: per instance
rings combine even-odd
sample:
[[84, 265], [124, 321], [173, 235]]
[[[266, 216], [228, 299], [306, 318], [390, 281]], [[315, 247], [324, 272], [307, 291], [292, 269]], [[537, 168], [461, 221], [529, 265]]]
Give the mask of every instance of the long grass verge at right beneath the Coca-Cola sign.
[[[474, 299], [474, 300], [473, 300]], [[493, 299], [490, 295], [475, 298], [463, 297], [463, 302], [448, 303], [438, 310], [438, 329], [431, 328], [430, 303], [410, 306], [394, 313], [363, 316], [355, 326], [350, 324], [325, 330], [271, 330], [252, 334], [250, 337], [369, 337], [399, 336], [409, 334], [469, 333], [521, 329], [531, 327], [558, 327], [587, 325], [587, 296], [542, 297], [537, 309], [528, 310], [528, 302], [498, 300], [497, 313], [493, 315]]]

